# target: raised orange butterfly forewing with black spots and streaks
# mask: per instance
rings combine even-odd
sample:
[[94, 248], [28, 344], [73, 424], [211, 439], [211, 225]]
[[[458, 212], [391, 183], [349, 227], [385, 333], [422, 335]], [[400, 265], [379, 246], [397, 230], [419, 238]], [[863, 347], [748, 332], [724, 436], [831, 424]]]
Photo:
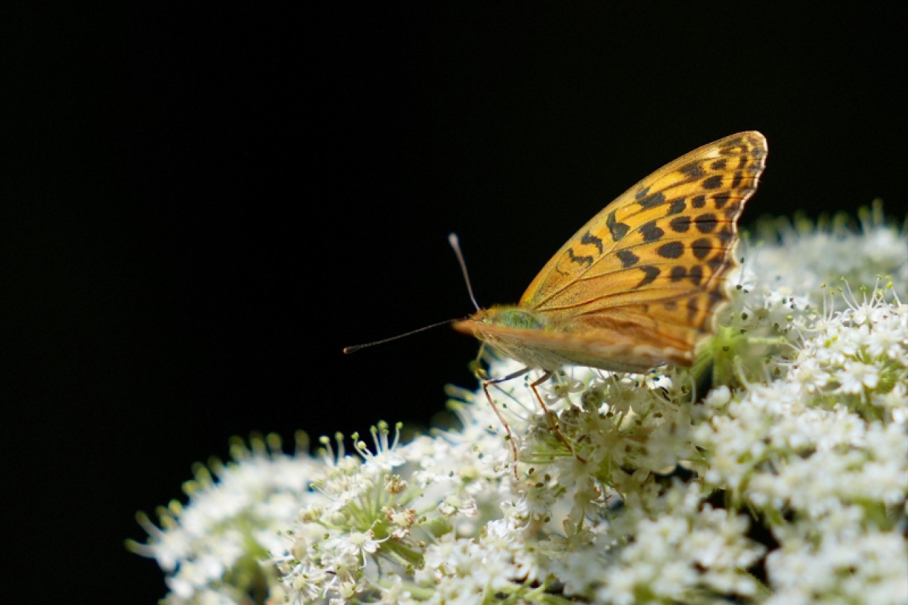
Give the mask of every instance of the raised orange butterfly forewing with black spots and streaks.
[[762, 134], [733, 134], [650, 174], [562, 246], [520, 305], [557, 320], [709, 289], [732, 262], [765, 153]]

